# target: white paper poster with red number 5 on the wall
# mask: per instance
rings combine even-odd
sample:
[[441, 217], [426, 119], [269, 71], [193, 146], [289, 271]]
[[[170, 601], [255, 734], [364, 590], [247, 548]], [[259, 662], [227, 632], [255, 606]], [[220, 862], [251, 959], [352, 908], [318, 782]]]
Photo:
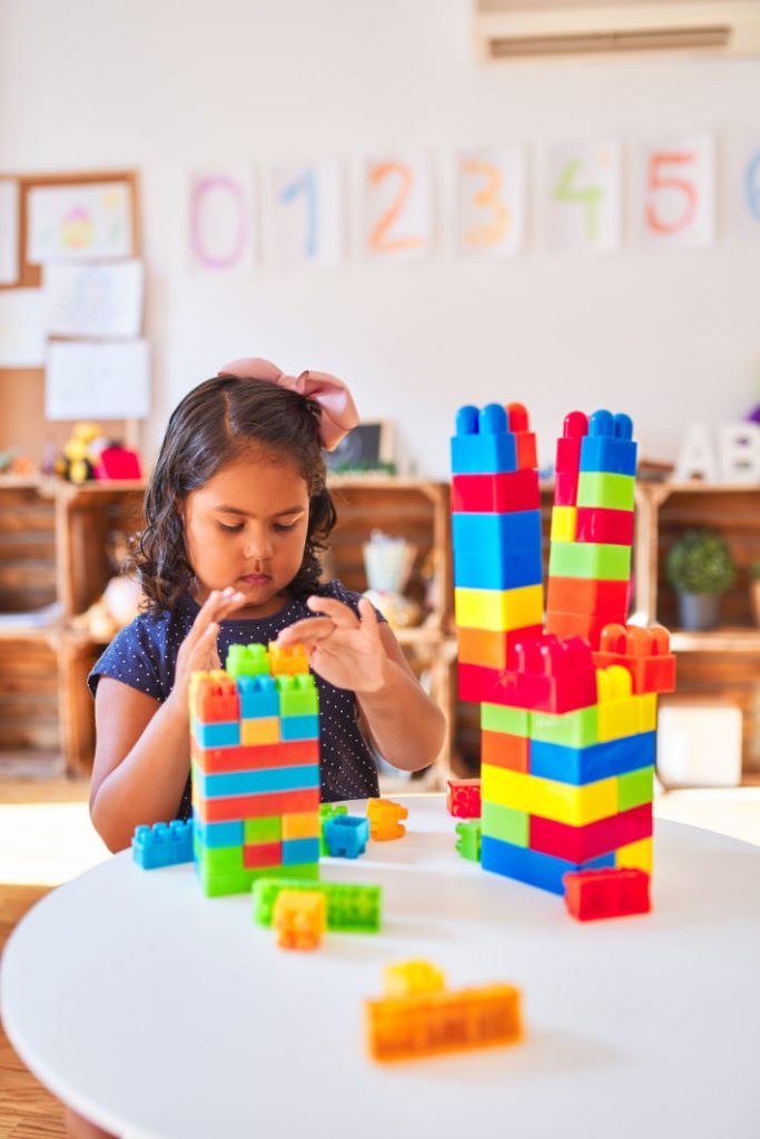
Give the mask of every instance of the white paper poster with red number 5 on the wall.
[[639, 223], [644, 244], [703, 248], [716, 236], [716, 146], [712, 136], [645, 146]]

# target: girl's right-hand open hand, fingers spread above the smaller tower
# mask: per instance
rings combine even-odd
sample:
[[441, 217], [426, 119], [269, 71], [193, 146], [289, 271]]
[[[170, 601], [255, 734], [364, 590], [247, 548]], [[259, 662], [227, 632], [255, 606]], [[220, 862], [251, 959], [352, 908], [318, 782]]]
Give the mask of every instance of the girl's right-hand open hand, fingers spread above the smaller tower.
[[336, 688], [357, 694], [382, 688], [391, 662], [367, 598], [359, 601], [359, 617], [348, 605], [329, 597], [310, 597], [307, 605], [321, 615], [284, 629], [277, 644], [305, 645], [311, 667]]

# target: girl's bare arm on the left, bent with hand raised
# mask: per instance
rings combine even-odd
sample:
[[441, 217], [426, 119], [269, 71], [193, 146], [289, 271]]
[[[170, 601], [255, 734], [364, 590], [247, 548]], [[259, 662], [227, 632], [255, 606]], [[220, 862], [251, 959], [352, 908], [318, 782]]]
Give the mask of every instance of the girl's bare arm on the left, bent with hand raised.
[[136, 827], [175, 817], [190, 772], [190, 675], [220, 667], [219, 622], [244, 600], [231, 589], [210, 593], [177, 654], [163, 704], [121, 680], [100, 679], [90, 818], [109, 850], [129, 846]]

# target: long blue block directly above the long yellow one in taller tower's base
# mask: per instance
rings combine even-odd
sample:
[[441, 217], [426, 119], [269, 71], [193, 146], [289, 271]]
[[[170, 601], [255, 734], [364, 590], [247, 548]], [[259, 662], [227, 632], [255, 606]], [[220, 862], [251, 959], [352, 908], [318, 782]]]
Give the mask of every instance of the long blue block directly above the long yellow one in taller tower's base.
[[541, 779], [582, 786], [597, 779], [610, 779], [654, 764], [656, 732], [644, 731], [638, 736], [611, 739], [590, 747], [565, 747], [532, 739], [530, 745], [530, 773]]

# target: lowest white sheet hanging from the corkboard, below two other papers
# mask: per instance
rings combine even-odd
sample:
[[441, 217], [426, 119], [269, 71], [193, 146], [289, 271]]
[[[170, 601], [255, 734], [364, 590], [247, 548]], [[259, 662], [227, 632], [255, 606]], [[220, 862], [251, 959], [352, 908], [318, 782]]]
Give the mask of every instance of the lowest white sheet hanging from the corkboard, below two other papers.
[[145, 419], [150, 411], [147, 341], [50, 341], [48, 419]]

